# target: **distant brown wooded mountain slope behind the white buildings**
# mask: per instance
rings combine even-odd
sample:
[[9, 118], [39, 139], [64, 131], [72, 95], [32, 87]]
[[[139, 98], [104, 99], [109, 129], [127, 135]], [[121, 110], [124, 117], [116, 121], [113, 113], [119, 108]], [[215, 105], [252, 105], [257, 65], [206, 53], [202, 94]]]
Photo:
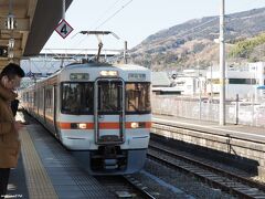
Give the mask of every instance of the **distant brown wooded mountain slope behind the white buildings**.
[[[253, 52], [263, 48], [263, 42], [243, 57], [235, 53], [232, 53], [232, 56], [230, 52], [239, 42], [264, 31], [265, 8], [225, 15], [225, 43], [227, 56], [230, 55], [227, 61], [244, 62], [262, 59], [253, 59], [256, 56]], [[153, 71], [178, 70], [198, 64], [203, 67], [219, 62], [219, 44], [214, 42], [218, 38], [219, 15], [193, 19], [151, 34], [129, 54], [131, 62], [151, 67]]]

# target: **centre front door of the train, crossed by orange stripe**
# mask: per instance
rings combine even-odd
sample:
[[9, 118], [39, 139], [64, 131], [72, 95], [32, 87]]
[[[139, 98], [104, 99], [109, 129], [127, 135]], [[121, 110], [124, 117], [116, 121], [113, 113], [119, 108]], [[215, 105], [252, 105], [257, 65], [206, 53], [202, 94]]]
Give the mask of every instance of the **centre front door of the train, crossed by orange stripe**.
[[96, 80], [94, 122], [96, 144], [125, 142], [125, 82], [121, 78]]

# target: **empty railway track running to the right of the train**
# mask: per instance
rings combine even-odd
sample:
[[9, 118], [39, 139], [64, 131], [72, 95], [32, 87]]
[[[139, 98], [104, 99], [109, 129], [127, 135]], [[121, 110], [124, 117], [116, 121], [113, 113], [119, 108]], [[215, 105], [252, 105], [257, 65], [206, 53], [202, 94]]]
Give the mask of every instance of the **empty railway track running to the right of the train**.
[[265, 198], [264, 185], [172, 151], [158, 143], [150, 142], [148, 157], [173, 169], [191, 174], [211, 187], [240, 198]]

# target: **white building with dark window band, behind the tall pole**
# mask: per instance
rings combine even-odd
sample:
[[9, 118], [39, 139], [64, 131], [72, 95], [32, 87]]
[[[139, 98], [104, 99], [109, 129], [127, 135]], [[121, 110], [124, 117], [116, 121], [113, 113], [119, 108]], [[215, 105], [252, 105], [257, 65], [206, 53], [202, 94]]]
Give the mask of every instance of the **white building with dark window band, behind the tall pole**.
[[[250, 63], [247, 66], [229, 67], [226, 70], [225, 97], [235, 98], [255, 98], [264, 97], [264, 72], [265, 63]], [[218, 67], [209, 67], [206, 72], [206, 93], [216, 96], [220, 93], [220, 72]]]

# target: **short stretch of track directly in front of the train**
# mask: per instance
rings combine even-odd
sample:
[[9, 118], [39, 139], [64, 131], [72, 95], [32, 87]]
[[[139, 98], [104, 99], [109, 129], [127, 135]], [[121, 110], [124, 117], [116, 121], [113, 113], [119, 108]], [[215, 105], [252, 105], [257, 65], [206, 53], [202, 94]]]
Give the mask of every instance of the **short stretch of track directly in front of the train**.
[[155, 199], [132, 176], [98, 176], [96, 179], [117, 198]]

